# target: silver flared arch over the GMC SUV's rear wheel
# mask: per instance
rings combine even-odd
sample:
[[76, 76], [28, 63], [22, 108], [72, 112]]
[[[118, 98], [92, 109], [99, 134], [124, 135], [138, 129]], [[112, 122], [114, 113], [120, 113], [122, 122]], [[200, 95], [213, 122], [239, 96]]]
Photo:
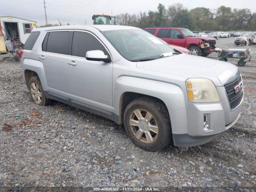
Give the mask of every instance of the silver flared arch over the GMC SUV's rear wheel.
[[42, 84], [42, 88], [45, 90], [47, 87], [46, 77], [44, 74], [44, 65], [42, 62], [34, 59], [24, 58], [22, 60], [22, 76], [25, 80], [25, 70], [31, 70], [38, 74], [40, 82]]

